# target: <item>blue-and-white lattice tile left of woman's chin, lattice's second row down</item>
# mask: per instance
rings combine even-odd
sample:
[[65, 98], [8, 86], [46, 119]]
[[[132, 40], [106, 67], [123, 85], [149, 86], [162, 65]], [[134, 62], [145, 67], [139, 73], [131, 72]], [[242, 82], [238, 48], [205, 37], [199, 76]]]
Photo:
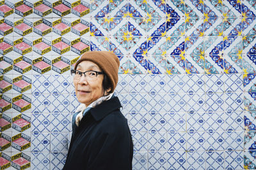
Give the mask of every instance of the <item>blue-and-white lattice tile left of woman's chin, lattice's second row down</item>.
[[51, 113], [70, 113], [70, 94], [54, 92], [51, 95]]

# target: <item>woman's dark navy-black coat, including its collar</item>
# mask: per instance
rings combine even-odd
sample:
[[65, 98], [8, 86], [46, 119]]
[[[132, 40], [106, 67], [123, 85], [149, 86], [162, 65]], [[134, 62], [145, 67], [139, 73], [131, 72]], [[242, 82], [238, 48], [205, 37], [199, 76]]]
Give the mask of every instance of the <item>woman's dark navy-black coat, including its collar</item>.
[[132, 169], [133, 145], [118, 97], [92, 108], [75, 125], [63, 169]]

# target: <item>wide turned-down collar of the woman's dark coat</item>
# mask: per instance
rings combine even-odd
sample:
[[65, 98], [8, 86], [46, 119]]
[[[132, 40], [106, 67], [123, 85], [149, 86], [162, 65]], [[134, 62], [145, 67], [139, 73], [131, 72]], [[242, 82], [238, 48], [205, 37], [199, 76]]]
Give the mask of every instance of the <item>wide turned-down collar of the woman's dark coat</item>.
[[92, 117], [99, 121], [102, 118], [106, 117], [109, 113], [112, 111], [121, 108], [122, 105], [118, 99], [118, 97], [112, 97], [108, 101], [104, 101], [101, 104], [95, 106], [95, 108], [92, 108], [90, 112], [92, 113]]

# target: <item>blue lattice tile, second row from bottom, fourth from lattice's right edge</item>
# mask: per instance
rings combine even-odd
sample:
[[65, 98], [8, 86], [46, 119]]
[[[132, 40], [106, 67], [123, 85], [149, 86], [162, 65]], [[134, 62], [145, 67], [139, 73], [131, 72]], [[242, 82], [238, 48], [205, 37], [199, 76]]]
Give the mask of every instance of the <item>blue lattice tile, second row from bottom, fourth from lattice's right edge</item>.
[[185, 132], [167, 132], [166, 150], [186, 151], [187, 135]]

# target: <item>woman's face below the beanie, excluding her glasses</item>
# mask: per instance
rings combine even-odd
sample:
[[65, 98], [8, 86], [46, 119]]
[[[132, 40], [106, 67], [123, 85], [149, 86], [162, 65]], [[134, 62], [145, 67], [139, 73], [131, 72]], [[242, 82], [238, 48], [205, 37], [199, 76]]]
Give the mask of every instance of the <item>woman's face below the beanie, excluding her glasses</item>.
[[[77, 71], [101, 71], [99, 66], [94, 62], [84, 60], [77, 65]], [[104, 75], [98, 74], [96, 80], [88, 81], [84, 74], [79, 79], [74, 78], [74, 86], [76, 90], [76, 96], [80, 103], [88, 106], [104, 95], [102, 87]]]

